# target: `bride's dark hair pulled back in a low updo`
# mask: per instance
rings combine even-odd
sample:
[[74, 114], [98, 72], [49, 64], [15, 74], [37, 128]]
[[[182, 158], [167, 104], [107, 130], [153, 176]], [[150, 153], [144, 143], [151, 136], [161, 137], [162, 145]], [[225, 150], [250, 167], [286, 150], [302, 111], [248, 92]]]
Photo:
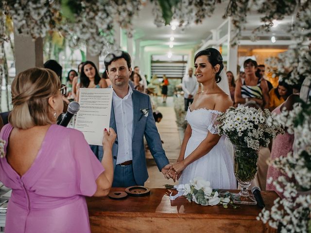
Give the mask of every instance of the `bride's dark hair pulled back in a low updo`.
[[215, 67], [217, 64], [220, 65], [220, 68], [218, 72], [216, 73], [216, 77], [215, 77], [216, 83], [219, 83], [222, 80], [222, 77], [220, 76], [220, 72], [222, 72], [224, 68], [222, 54], [220, 54], [220, 52], [214, 48], [207, 48], [195, 54], [194, 62], [198, 57], [203, 56], [203, 55], [207, 56], [208, 62], [212, 65], [212, 67]]

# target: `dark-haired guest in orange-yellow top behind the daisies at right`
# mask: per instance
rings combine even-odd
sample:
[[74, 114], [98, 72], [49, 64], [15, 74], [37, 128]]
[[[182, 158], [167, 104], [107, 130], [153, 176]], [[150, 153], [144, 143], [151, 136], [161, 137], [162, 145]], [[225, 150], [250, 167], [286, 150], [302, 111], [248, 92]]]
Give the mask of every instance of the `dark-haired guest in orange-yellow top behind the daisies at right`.
[[269, 110], [272, 112], [277, 106], [281, 105], [287, 97], [293, 94], [293, 88], [285, 83], [280, 81], [276, 88], [273, 88], [269, 92]]

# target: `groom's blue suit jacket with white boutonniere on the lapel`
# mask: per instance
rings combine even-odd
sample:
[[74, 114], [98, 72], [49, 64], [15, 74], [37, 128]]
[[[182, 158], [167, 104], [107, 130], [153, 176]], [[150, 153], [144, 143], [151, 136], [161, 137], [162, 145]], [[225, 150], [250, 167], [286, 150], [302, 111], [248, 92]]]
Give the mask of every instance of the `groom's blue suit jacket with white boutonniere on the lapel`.
[[[152, 114], [150, 97], [139, 91], [133, 90], [133, 133], [132, 133], [132, 153], [133, 153], [133, 172], [137, 184], [143, 184], [148, 179], [147, 164], [145, 157], [145, 147], [143, 136], [145, 135], [148, 147], [155, 159], [158, 169], [169, 164], [165, 152], [162, 148], [160, 135], [155, 126], [155, 119]], [[141, 109], [148, 109], [148, 116], [144, 116]], [[117, 139], [112, 147], [113, 165], [116, 166], [118, 156], [118, 132], [116, 126], [113, 104], [111, 106], [110, 127], [117, 133]], [[117, 116], [118, 117], [118, 116]], [[97, 157], [103, 157], [103, 147], [92, 146], [93, 152]]]

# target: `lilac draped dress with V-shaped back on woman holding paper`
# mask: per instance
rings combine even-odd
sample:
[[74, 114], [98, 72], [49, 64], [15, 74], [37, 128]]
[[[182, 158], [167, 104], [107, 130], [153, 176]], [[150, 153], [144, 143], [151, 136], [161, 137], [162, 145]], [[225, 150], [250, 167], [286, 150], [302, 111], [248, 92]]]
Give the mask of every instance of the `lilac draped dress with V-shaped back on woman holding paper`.
[[[5, 152], [12, 129], [7, 124], [0, 133]], [[21, 177], [6, 157], [0, 158], [0, 181], [12, 188], [5, 232], [89, 233], [85, 196], [93, 196], [103, 171], [81, 132], [51, 125], [34, 163]]]

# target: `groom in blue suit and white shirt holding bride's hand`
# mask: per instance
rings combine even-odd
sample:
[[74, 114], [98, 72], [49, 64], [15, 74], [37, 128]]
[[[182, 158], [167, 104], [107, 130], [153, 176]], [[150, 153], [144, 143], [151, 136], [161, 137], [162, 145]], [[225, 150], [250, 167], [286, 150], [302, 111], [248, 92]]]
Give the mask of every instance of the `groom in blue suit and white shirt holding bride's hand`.
[[[169, 160], [155, 126], [150, 97], [129, 86], [131, 57], [121, 50], [109, 53], [104, 65], [113, 88], [110, 127], [117, 133], [112, 148], [113, 187], [144, 185], [148, 179], [143, 136], [145, 135], [158, 169], [169, 179]], [[102, 160], [103, 147], [91, 146]]]

